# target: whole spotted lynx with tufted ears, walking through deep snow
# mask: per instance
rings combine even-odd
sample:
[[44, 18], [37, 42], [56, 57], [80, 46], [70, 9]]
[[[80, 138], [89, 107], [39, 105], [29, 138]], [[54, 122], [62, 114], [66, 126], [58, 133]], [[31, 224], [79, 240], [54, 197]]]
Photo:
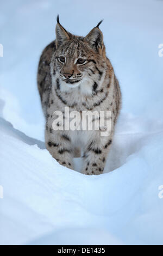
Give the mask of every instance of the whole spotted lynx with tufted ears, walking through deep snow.
[[[43, 50], [37, 74], [46, 147], [54, 159], [71, 169], [73, 157], [82, 153], [82, 172], [87, 175], [103, 173], [121, 108], [121, 91], [105, 54], [100, 24], [85, 37], [76, 36], [60, 25], [58, 16], [56, 40]], [[55, 131], [53, 112], [64, 113], [65, 107], [81, 115], [83, 111], [111, 111], [110, 135], [101, 136], [100, 129]]]

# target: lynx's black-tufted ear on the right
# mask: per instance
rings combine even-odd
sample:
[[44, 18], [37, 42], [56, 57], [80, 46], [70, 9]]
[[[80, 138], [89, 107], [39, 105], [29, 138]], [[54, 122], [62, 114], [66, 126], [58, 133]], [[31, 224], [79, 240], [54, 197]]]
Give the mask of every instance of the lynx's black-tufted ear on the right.
[[95, 28], [93, 28], [91, 32], [87, 34], [84, 38], [84, 41], [88, 42], [90, 46], [93, 48], [93, 50], [97, 52], [101, 52], [104, 47], [103, 33], [98, 28], [101, 23], [102, 21], [100, 21], [98, 25]]

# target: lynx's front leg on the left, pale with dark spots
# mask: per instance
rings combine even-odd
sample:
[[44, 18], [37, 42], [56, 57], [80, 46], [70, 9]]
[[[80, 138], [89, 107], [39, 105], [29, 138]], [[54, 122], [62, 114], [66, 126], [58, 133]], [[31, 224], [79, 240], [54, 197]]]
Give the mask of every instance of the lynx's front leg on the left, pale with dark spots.
[[71, 138], [65, 132], [45, 133], [46, 148], [61, 165], [73, 169]]

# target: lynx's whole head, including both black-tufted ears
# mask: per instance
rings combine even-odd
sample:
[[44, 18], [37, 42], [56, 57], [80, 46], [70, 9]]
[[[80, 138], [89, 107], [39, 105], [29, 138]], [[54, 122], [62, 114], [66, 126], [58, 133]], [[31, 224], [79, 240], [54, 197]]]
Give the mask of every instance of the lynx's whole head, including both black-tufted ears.
[[[52, 77], [61, 84], [74, 88], [87, 82], [99, 81], [106, 69], [103, 34], [97, 27], [84, 37], [67, 32], [58, 22], [56, 27], [57, 50], [52, 59]], [[103, 70], [103, 71], [102, 71]]]

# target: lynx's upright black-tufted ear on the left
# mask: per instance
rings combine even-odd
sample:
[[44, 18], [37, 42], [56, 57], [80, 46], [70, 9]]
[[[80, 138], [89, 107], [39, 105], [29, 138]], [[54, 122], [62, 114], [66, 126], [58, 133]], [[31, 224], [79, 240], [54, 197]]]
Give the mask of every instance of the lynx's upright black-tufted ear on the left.
[[70, 40], [71, 34], [66, 31], [64, 27], [60, 25], [59, 15], [57, 16], [57, 25], [55, 28], [56, 41], [55, 44], [57, 48], [66, 40]]

